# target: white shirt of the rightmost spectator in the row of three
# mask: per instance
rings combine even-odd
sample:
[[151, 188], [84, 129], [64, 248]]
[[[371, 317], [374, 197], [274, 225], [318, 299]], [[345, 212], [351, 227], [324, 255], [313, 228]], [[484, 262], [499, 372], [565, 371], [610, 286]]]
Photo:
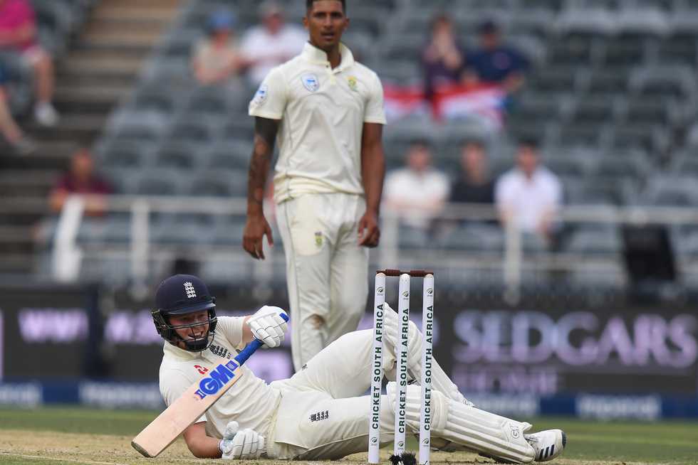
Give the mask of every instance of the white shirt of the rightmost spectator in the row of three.
[[558, 177], [542, 166], [530, 179], [520, 169], [512, 169], [497, 181], [494, 197], [500, 210], [514, 215], [521, 230], [536, 232], [541, 220], [558, 210], [562, 186]]

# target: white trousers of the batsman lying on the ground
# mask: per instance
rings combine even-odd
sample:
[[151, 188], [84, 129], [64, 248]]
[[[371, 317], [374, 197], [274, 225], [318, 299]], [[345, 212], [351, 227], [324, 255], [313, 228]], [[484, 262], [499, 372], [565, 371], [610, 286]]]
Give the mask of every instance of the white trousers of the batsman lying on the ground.
[[[269, 458], [340, 459], [368, 449], [372, 343], [372, 330], [345, 334], [291, 378], [271, 383], [281, 403], [267, 437]], [[386, 370], [394, 364], [386, 355]], [[380, 439], [387, 444], [395, 417], [382, 397]]]

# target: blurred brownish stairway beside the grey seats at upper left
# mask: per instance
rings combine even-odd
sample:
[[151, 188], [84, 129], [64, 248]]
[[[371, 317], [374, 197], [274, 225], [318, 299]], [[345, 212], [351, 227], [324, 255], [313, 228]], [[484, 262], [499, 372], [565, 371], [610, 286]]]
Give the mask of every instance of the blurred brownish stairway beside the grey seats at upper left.
[[15, 156], [0, 148], [0, 273], [35, 271], [36, 252], [46, 246], [37, 226], [50, 213], [51, 187], [73, 151], [98, 138], [183, 1], [102, 0], [90, 12], [69, 53], [56, 63], [60, 124], [46, 129], [20, 122], [37, 142], [34, 154]]

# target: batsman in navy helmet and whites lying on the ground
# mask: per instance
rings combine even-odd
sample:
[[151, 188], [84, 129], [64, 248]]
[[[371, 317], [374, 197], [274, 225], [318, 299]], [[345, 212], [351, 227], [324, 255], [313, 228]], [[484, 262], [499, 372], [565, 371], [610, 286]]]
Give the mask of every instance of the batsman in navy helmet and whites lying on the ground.
[[[218, 357], [235, 356], [257, 338], [269, 348], [283, 341], [283, 310], [263, 306], [245, 317], [216, 316], [215, 299], [201, 279], [177, 274], [155, 295], [155, 326], [168, 342], [160, 365], [160, 392], [175, 402]], [[387, 307], [387, 305], [386, 305]], [[385, 311], [384, 370], [395, 380], [397, 314]], [[420, 380], [422, 336], [410, 321], [408, 373]], [[184, 430], [194, 456], [224, 459], [340, 459], [368, 450], [371, 348], [373, 331], [354, 331], [331, 343], [286, 380], [266, 384], [245, 365], [239, 382]], [[434, 360], [432, 369], [432, 446], [472, 450], [499, 461], [528, 463], [560, 455], [566, 436], [560, 429], [526, 434], [531, 424], [475, 408]], [[395, 383], [388, 383], [384, 405], [395, 406]], [[419, 432], [420, 387], [407, 389], [407, 424]], [[395, 414], [382, 408], [381, 444], [393, 440]]]

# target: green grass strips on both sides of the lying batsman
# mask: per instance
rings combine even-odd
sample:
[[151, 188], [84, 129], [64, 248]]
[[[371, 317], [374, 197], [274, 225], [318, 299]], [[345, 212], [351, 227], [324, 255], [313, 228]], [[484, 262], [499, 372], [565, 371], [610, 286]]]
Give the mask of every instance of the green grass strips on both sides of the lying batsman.
[[[156, 415], [157, 412], [152, 411], [83, 408], [0, 410], [0, 436], [2, 429], [133, 436]], [[568, 434], [568, 447], [563, 457], [568, 460], [603, 461], [613, 465], [629, 461], [698, 465], [698, 422], [590, 422], [545, 417], [531, 423], [535, 430], [563, 429]], [[416, 450], [417, 444], [413, 442], [410, 448]], [[74, 461], [7, 456], [0, 456], [0, 462], [75, 464]]]

